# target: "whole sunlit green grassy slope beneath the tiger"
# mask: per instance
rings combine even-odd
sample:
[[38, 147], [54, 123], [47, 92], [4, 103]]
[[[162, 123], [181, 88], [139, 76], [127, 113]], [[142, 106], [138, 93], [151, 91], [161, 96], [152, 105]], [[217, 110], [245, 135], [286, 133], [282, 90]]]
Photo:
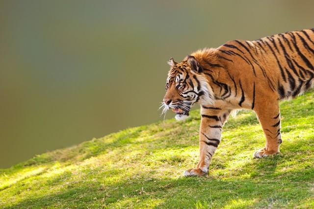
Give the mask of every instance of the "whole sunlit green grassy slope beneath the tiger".
[[281, 153], [264, 146], [254, 113], [225, 125], [204, 177], [182, 176], [198, 162], [199, 111], [129, 128], [0, 170], [0, 208], [314, 208], [314, 93], [281, 103]]

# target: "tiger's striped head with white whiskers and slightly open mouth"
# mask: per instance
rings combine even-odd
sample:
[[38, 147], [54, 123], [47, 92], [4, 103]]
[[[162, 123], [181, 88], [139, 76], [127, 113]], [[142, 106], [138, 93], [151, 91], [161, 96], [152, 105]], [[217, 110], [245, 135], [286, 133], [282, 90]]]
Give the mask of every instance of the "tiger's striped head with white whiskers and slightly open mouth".
[[171, 58], [166, 82], [166, 94], [161, 107], [165, 113], [172, 109], [177, 120], [183, 120], [196, 102], [212, 103], [212, 90], [202, 75], [203, 68], [194, 56], [187, 56], [181, 63]]

